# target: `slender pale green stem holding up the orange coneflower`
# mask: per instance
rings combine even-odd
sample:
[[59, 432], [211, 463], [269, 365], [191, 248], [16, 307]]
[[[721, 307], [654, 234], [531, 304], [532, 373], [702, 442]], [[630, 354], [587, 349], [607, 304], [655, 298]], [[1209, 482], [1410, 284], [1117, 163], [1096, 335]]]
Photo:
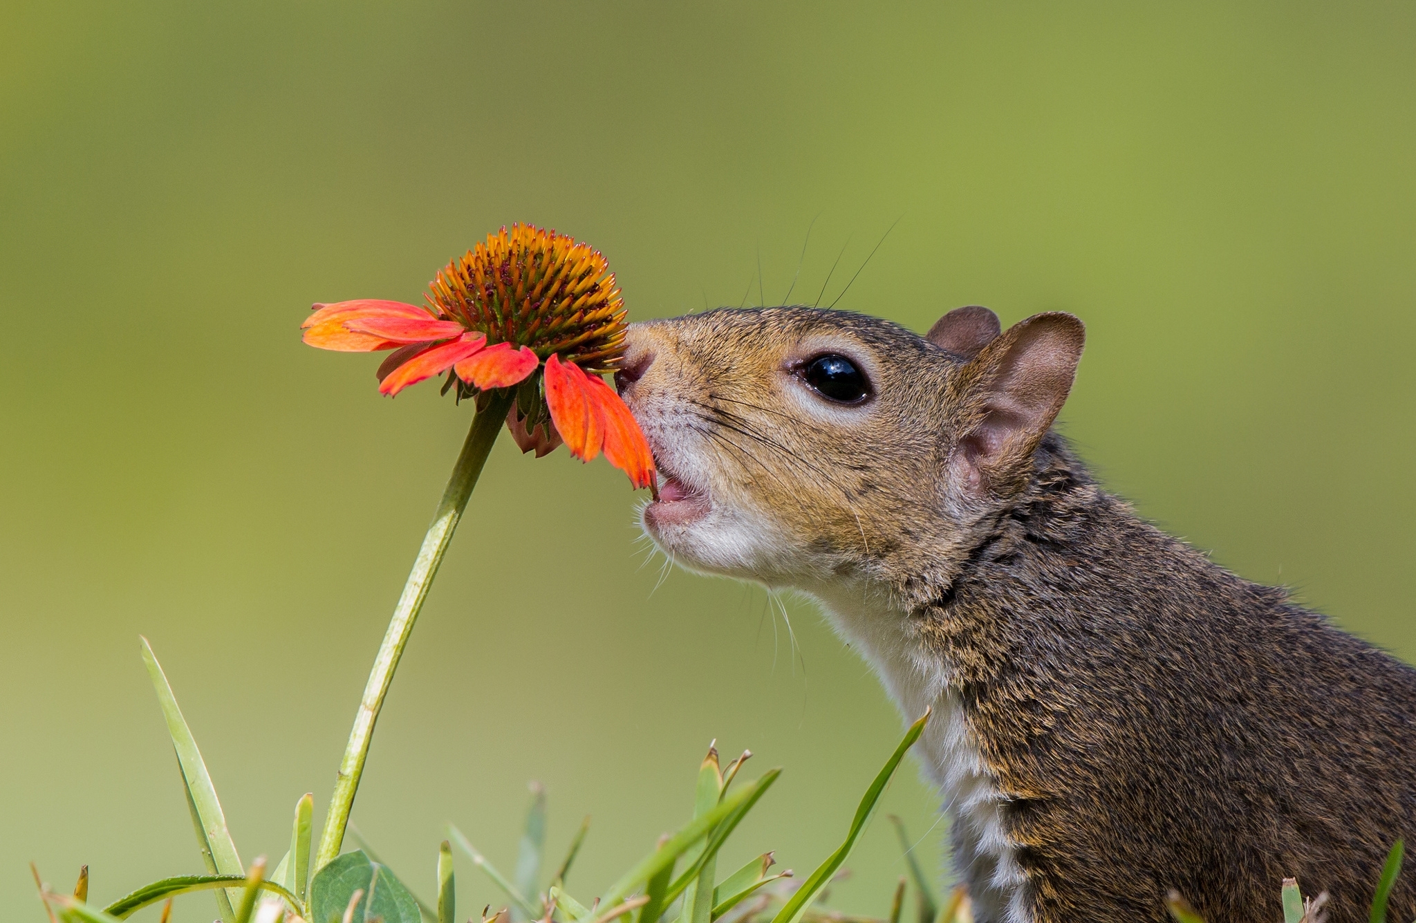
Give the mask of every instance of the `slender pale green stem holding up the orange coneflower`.
[[462, 511], [467, 508], [467, 498], [477, 484], [481, 466], [491, 453], [501, 425], [511, 409], [511, 396], [501, 396], [493, 392], [490, 403], [472, 420], [472, 430], [462, 445], [462, 454], [452, 469], [447, 487], [438, 503], [438, 512], [433, 524], [428, 527], [423, 537], [423, 546], [418, 549], [418, 559], [404, 585], [404, 595], [398, 597], [394, 617], [384, 633], [384, 643], [378, 647], [378, 657], [374, 658], [374, 668], [368, 674], [368, 685], [364, 687], [364, 699], [358, 705], [354, 716], [354, 729], [350, 730], [350, 742], [344, 747], [344, 759], [340, 760], [340, 774], [334, 781], [334, 796], [330, 798], [330, 813], [324, 820], [324, 832], [320, 834], [320, 849], [314, 858], [314, 869], [320, 871], [340, 854], [344, 842], [344, 828], [348, 825], [350, 810], [354, 807], [354, 794], [358, 791], [360, 777], [364, 774], [364, 760], [368, 757], [368, 745], [374, 738], [374, 722], [384, 708], [384, 696], [394, 682], [394, 671], [398, 670], [398, 660], [404, 655], [404, 647], [413, 633], [413, 623], [418, 612], [428, 599], [428, 589], [438, 575], [438, 565], [442, 563], [443, 552], [452, 541], [452, 534], [457, 528]]

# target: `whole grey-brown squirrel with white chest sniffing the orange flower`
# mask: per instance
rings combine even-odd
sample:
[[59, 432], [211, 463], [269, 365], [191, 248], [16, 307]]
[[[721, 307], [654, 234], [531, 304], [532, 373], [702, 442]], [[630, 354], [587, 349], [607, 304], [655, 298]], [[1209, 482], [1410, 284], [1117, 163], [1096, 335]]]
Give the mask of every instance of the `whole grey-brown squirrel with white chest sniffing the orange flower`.
[[[633, 324], [678, 565], [796, 589], [875, 670], [978, 923], [1366, 920], [1416, 834], [1416, 670], [1141, 520], [1052, 432], [1082, 321], [811, 307]], [[1391, 919], [1416, 916], [1416, 875]]]

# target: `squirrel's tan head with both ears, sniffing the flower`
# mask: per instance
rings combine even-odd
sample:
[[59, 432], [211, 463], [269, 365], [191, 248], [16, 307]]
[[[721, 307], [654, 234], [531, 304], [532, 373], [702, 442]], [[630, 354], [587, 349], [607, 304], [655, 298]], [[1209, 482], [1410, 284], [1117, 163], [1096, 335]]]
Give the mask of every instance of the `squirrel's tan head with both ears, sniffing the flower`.
[[1000, 331], [984, 307], [925, 337], [810, 307], [633, 324], [616, 381], [661, 477], [644, 529], [698, 571], [915, 595], [1028, 483], [1082, 343], [1070, 314]]

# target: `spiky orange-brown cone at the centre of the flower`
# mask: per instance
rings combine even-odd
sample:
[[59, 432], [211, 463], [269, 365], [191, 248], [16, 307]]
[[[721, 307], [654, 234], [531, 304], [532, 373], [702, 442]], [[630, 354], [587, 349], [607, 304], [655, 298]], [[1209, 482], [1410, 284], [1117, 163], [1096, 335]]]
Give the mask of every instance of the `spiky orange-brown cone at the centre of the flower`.
[[624, 300], [605, 256], [555, 231], [515, 224], [489, 234], [453, 259], [430, 285], [439, 316], [590, 374], [619, 368]]

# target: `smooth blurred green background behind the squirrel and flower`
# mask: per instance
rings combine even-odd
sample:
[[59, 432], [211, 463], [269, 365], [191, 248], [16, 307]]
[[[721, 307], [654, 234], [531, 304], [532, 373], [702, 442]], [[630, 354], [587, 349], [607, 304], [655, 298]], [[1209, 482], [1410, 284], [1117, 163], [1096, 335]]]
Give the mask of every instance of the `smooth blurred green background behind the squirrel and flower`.
[[[1409, 3], [4, 4], [0, 906], [40, 917], [30, 859], [99, 899], [200, 868], [139, 633], [245, 858], [323, 806], [470, 412], [297, 326], [511, 221], [654, 317], [799, 266], [830, 302], [898, 218], [840, 307], [1080, 314], [1104, 480], [1416, 658], [1413, 47]], [[551, 852], [598, 818], [592, 893], [712, 738], [786, 766], [731, 858], [810, 868], [896, 739], [811, 607], [793, 648], [760, 590], [656, 589], [634, 503], [498, 445], [354, 813], [423, 893], [446, 820], [513, 864], [530, 779]], [[885, 804], [930, 868], [933, 807], [913, 770]], [[851, 866], [834, 902], [884, 912], [888, 824]]]

